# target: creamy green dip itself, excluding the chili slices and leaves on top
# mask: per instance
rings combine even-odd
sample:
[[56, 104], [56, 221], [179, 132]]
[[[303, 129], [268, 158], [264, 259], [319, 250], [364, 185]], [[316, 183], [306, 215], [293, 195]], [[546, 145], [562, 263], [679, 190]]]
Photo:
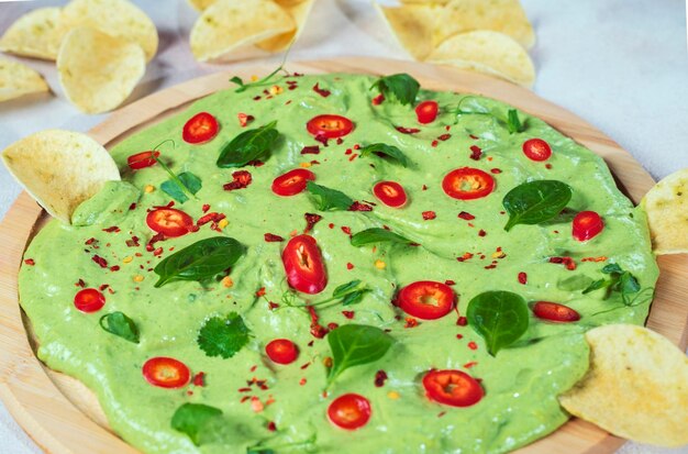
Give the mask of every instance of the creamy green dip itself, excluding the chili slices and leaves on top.
[[[440, 114], [420, 124], [411, 106], [390, 99], [374, 103], [378, 92], [369, 89], [373, 82], [352, 75], [287, 77], [275, 82], [280, 90], [274, 93], [260, 87], [203, 98], [118, 144], [111, 152], [123, 181], [108, 184], [85, 202], [75, 213], [75, 225], [52, 221], [34, 237], [25, 253], [33, 262], [22, 266], [19, 285], [38, 357], [92, 389], [112, 429], [129, 443], [146, 453], [244, 454], [256, 445], [277, 453], [507, 452], [567, 420], [557, 395], [587, 370], [586, 330], [644, 323], [658, 275], [645, 214], [617, 189], [600, 157], [524, 112], [519, 112], [524, 131], [510, 133], [506, 120], [511, 108], [477, 96], [421, 90], [420, 100], [435, 100]], [[473, 113], [457, 114], [459, 110]], [[220, 130], [207, 143], [189, 144], [182, 129], [198, 112], [214, 115]], [[240, 113], [255, 119], [242, 128]], [[306, 126], [320, 114], [346, 117], [353, 131], [341, 141], [328, 140], [325, 146]], [[215, 165], [229, 141], [273, 121], [280, 137], [269, 157], [260, 159], [263, 165]], [[533, 137], [550, 144], [548, 159], [525, 156], [522, 144]], [[159, 146], [160, 159], [175, 174], [192, 173], [202, 182], [196, 199], [174, 208], [195, 222], [215, 212], [225, 214], [229, 223], [211, 221], [147, 250], [155, 232], [146, 225], [146, 215], [171, 201], [160, 189], [169, 176], [158, 164], [131, 170], [127, 157], [164, 141], [170, 142]], [[397, 146], [409, 159], [408, 167], [377, 155], [362, 157], [356, 145], [373, 143]], [[319, 146], [319, 153], [303, 154], [307, 146]], [[273, 192], [276, 177], [306, 167], [318, 185], [343, 191], [373, 210], [318, 211], [306, 191], [291, 197]], [[462, 167], [488, 173], [493, 191], [475, 200], [448, 197], [443, 178]], [[238, 170], [251, 174], [248, 186], [223, 189]], [[572, 215], [504, 231], [504, 195], [541, 179], [570, 186], [569, 211], [596, 211], [603, 231], [577, 241]], [[382, 180], [403, 186], [406, 206], [390, 208], [373, 195]], [[148, 185], [154, 190], [146, 190]], [[469, 217], [459, 217], [462, 212]], [[281, 261], [289, 239], [306, 228], [304, 213], [322, 215], [310, 231], [328, 275], [319, 295], [290, 292]], [[351, 244], [349, 232], [381, 226], [418, 245]], [[284, 241], [266, 242], [266, 233]], [[219, 235], [246, 248], [229, 278], [154, 287], [158, 276], [153, 268], [162, 259]], [[570, 257], [575, 269], [552, 263], [552, 257]], [[624, 304], [619, 292], [606, 298], [604, 290], [581, 291], [608, 277], [601, 269], [612, 263], [632, 273], [642, 288], [630, 303]], [[352, 306], [337, 301], [317, 307], [319, 323], [325, 329], [329, 323], [379, 326], [389, 330], [396, 343], [381, 359], [344, 370], [324, 397], [325, 363], [332, 355], [326, 337], [313, 336], [309, 312], [289, 304], [323, 301], [337, 286], [355, 279], [370, 291]], [[409, 318], [392, 301], [398, 289], [419, 280], [450, 281], [457, 310], [436, 320]], [[77, 310], [74, 299], [80, 286], [100, 289], [104, 307], [93, 313]], [[485, 340], [459, 318], [466, 315], [468, 301], [488, 290], [508, 290], [529, 302], [559, 302], [575, 309], [580, 320], [553, 323], [529, 310], [525, 334], [493, 357]], [[138, 343], [101, 328], [100, 318], [114, 311], [135, 322]], [[241, 314], [248, 328], [247, 345], [229, 358], [207, 356], [197, 343], [199, 330], [208, 319], [231, 312]], [[279, 365], [267, 358], [265, 346], [275, 339], [296, 343], [296, 362]], [[182, 362], [196, 379], [174, 389], [151, 385], [142, 367], [159, 356]], [[485, 397], [465, 408], [431, 401], [421, 380], [432, 368], [469, 374], [480, 380]], [[376, 386], [379, 370], [387, 376], [378, 379], [382, 386]], [[333, 425], [326, 416], [333, 399], [347, 392], [366, 397], [371, 407], [370, 420], [356, 431]], [[222, 423], [203, 428], [200, 446], [170, 425], [185, 402], [223, 412]]]

